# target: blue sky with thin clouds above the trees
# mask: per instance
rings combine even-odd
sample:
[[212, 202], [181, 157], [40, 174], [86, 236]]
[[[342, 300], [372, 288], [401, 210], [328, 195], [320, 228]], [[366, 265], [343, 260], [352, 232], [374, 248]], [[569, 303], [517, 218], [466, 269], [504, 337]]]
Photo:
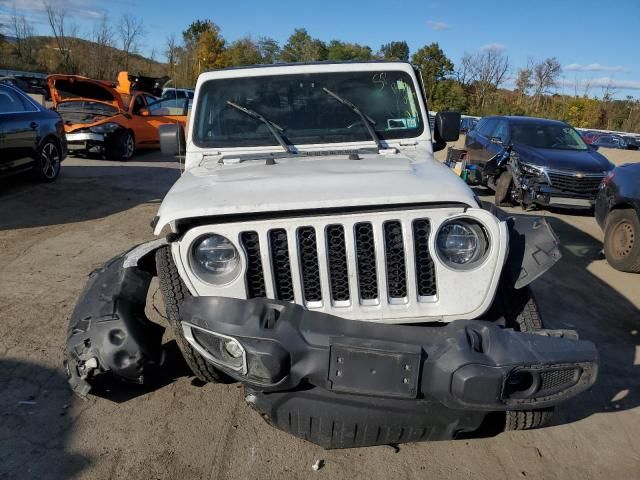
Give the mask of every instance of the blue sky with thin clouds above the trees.
[[[90, 35], [105, 12], [141, 17], [146, 35], [141, 53], [162, 57], [166, 38], [181, 37], [196, 19], [211, 19], [233, 41], [251, 36], [285, 43], [304, 27], [324, 41], [339, 39], [371, 46], [406, 40], [415, 51], [438, 42], [459, 64], [465, 52], [497, 48], [509, 56], [511, 72], [529, 58], [557, 57], [563, 93], [640, 98], [640, 0], [51, 0], [64, 5], [80, 32]], [[48, 34], [40, 0], [0, 0], [0, 23], [14, 11]], [[512, 83], [512, 80], [509, 82]], [[509, 82], [506, 84], [510, 87]]]

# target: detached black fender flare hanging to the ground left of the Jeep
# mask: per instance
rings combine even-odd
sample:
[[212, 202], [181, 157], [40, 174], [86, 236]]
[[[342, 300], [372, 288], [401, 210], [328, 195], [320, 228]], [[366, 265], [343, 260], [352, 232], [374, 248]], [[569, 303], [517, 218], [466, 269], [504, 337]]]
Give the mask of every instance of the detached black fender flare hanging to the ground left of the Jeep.
[[164, 327], [145, 315], [154, 252], [164, 239], [138, 245], [89, 274], [69, 319], [64, 367], [75, 393], [86, 396], [99, 373], [135, 383], [164, 360]]

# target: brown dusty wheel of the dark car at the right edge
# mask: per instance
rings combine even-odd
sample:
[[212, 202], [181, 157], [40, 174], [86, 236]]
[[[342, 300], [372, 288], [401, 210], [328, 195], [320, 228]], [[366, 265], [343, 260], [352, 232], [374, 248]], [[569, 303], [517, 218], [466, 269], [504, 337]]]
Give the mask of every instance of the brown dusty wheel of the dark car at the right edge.
[[604, 227], [604, 254], [616, 270], [640, 273], [640, 219], [634, 209], [609, 214]]

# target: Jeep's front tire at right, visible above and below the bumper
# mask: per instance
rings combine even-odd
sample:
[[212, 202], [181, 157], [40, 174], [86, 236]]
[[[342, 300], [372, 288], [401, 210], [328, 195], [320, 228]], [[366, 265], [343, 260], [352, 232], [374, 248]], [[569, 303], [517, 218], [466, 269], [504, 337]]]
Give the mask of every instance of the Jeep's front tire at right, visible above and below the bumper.
[[[489, 312], [490, 318], [504, 318], [505, 327], [518, 332], [544, 328], [533, 292], [526, 286], [515, 289], [501, 281]], [[553, 416], [553, 407], [534, 410], [507, 410], [504, 430], [531, 430], [545, 426]]]

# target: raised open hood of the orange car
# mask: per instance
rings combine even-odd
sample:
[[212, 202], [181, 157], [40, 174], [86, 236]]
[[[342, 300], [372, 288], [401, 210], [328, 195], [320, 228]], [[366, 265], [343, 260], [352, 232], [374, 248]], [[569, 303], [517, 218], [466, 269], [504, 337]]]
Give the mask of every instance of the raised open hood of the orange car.
[[49, 75], [47, 84], [54, 107], [67, 101], [92, 100], [125, 110], [122, 97], [109, 82], [79, 75]]

